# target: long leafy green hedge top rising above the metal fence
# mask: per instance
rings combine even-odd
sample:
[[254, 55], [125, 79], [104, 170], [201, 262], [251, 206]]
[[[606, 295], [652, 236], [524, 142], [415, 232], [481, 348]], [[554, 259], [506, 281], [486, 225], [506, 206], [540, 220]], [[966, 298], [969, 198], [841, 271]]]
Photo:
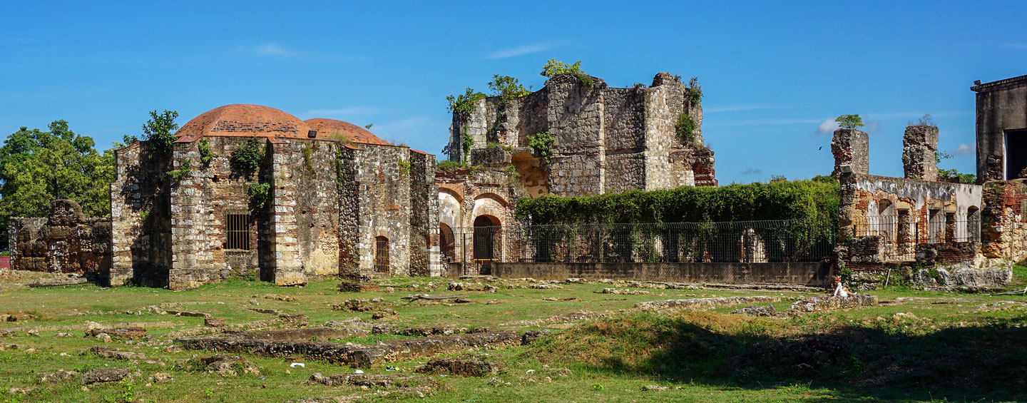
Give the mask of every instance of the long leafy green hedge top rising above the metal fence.
[[838, 218], [838, 182], [832, 177], [816, 177], [721, 187], [632, 190], [584, 197], [522, 197], [518, 200], [516, 214], [530, 224], [749, 220], [831, 224]]

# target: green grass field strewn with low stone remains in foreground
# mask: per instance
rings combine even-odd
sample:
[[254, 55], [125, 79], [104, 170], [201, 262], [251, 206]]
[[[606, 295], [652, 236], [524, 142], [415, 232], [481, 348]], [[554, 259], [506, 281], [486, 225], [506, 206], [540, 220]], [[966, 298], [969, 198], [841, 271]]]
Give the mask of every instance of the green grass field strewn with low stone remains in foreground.
[[[1027, 271], [1018, 267], [1021, 285]], [[494, 331], [549, 329], [528, 345], [473, 351], [473, 355], [505, 364], [493, 379], [431, 375], [441, 388], [421, 398], [378, 397], [382, 401], [438, 402], [538, 401], [822, 401], [1027, 400], [1027, 303], [1023, 295], [935, 293], [896, 287], [871, 292], [880, 304], [770, 318], [733, 315], [740, 306], [647, 313], [641, 301], [714, 296], [770, 295], [778, 312], [791, 300], [808, 296], [774, 291], [718, 289], [618, 289], [649, 294], [598, 293], [609, 284], [562, 284], [563, 289], [506, 288], [528, 282], [496, 283], [497, 292], [447, 291], [447, 280], [401, 278], [383, 280], [394, 292], [340, 293], [337, 280], [312, 282], [302, 288], [277, 288], [258, 282], [227, 282], [173, 292], [150, 288], [103, 289], [97, 286], [28, 288], [22, 279], [0, 277], [0, 314], [31, 314], [34, 320], [0, 323], [17, 329], [0, 337], [0, 399], [4, 401], [287, 401], [301, 398], [371, 394], [357, 387], [308, 384], [314, 372], [351, 373], [353, 368], [305, 360], [243, 355], [261, 375], [219, 376], [188, 371], [176, 364], [211, 352], [176, 351], [172, 336], [202, 328], [203, 318], [159, 315], [148, 306], [188, 303], [176, 309], [225, 318], [229, 325], [274, 319], [249, 308], [272, 308], [310, 318], [310, 327], [354, 317], [393, 328], [488, 327]], [[462, 295], [470, 303], [407, 302], [417, 293]], [[289, 297], [295, 298], [295, 300]], [[576, 300], [543, 300], [545, 297]], [[369, 302], [375, 310], [395, 309], [397, 316], [372, 320], [371, 312], [333, 310], [333, 303], [350, 298], [381, 298]], [[577, 312], [613, 313], [607, 317], [565, 322], [534, 321]], [[71, 330], [74, 337], [56, 337], [74, 326], [164, 323], [149, 329], [143, 341], [102, 341]], [[170, 322], [170, 323], [167, 323]], [[38, 335], [28, 335], [38, 328]], [[367, 335], [338, 342], [374, 343], [406, 336]], [[16, 349], [10, 344], [18, 344]], [[145, 360], [119, 361], [83, 353], [92, 345], [143, 353]], [[396, 362], [395, 371], [413, 374], [428, 358]], [[112, 383], [83, 386], [76, 379], [56, 383], [39, 380], [42, 372], [84, 371], [128, 367], [139, 375]], [[151, 380], [166, 373], [174, 381]], [[10, 389], [34, 388], [27, 394]], [[375, 399], [369, 399], [375, 400]]]

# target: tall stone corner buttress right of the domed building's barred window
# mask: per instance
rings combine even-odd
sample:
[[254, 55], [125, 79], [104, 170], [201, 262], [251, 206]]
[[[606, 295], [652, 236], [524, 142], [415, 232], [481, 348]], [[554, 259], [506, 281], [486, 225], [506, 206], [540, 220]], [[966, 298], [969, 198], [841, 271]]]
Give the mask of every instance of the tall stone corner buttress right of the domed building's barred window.
[[289, 143], [270, 139], [271, 147], [271, 251], [274, 284], [301, 286], [307, 284], [300, 260], [296, 225], [296, 181], [290, 161]]

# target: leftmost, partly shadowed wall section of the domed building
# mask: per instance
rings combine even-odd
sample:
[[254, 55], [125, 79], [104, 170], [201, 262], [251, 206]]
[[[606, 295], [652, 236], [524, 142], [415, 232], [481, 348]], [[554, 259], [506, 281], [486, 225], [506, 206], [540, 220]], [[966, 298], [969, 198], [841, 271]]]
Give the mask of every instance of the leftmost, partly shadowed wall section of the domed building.
[[172, 266], [170, 158], [148, 142], [115, 151], [111, 183], [111, 286], [164, 285]]

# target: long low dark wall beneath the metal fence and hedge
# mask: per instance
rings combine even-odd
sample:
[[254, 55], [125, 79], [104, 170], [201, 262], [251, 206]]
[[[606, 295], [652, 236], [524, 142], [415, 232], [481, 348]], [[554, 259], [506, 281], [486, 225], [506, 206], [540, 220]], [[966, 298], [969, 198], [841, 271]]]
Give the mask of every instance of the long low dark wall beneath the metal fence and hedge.
[[791, 263], [494, 263], [492, 276], [538, 280], [648, 280], [680, 283], [831, 285], [831, 264]]

